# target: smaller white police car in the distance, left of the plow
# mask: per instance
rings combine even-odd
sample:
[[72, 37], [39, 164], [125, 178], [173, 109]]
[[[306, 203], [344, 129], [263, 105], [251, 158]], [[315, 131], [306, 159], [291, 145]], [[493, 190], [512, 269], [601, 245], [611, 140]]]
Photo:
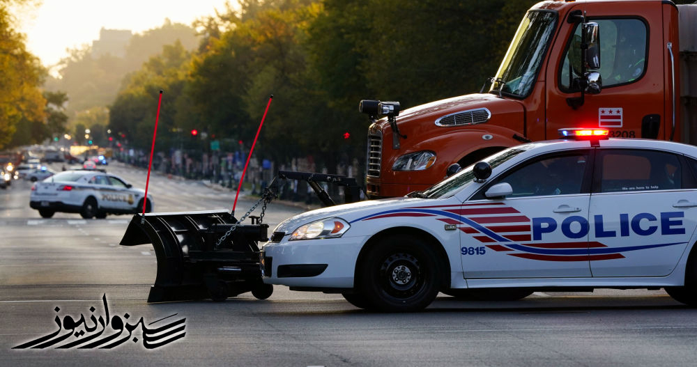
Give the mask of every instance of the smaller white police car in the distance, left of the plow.
[[[41, 217], [55, 212], [80, 213], [99, 219], [107, 214], [132, 214], [143, 208], [144, 191], [135, 189], [116, 175], [102, 171], [64, 171], [31, 187], [29, 206]], [[148, 195], [146, 212], [153, 209]]]

